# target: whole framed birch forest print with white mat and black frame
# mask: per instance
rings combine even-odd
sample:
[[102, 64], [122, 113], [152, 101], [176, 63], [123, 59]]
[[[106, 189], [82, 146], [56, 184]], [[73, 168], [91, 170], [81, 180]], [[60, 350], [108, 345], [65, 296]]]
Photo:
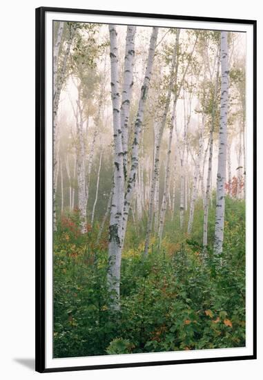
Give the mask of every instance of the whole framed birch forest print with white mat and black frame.
[[256, 21], [38, 8], [36, 64], [36, 370], [255, 359]]

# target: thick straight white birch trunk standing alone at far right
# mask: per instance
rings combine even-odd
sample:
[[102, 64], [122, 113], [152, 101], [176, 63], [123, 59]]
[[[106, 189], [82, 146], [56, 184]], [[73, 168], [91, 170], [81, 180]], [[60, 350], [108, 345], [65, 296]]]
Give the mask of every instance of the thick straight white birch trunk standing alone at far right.
[[228, 32], [221, 32], [221, 106], [220, 106], [220, 132], [219, 153], [217, 167], [217, 203], [215, 211], [215, 254], [222, 254], [224, 243], [224, 205], [226, 182], [226, 146], [227, 146], [227, 120], [228, 120]]

